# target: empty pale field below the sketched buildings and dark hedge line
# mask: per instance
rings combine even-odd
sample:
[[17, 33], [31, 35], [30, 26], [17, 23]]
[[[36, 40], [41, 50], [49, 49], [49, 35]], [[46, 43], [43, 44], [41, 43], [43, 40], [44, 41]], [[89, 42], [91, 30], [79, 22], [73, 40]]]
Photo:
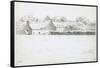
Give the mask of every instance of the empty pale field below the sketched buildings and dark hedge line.
[[95, 35], [16, 35], [15, 64], [96, 61]]

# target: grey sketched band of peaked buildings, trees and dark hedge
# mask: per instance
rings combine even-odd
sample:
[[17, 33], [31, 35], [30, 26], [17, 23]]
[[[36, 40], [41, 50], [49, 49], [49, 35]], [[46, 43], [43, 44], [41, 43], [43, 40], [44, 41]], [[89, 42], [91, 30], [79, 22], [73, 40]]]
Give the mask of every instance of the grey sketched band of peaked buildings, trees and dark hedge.
[[96, 22], [86, 17], [67, 20], [65, 17], [22, 17], [17, 21], [16, 33], [25, 35], [94, 35]]

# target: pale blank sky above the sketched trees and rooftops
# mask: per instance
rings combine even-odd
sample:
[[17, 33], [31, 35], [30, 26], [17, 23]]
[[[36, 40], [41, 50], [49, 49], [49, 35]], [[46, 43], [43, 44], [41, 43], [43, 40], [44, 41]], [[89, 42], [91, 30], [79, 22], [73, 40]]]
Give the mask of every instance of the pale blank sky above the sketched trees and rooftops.
[[96, 20], [96, 7], [16, 2], [15, 19], [23, 16], [65, 16], [70, 20], [81, 16]]

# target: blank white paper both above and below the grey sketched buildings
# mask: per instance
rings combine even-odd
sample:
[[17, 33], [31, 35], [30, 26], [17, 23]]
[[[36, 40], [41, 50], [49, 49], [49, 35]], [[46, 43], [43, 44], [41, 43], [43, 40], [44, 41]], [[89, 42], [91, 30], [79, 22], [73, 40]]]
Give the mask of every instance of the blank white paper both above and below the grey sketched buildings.
[[[16, 2], [15, 23], [23, 16], [65, 16], [70, 20], [82, 16], [94, 21], [96, 8]], [[17, 35], [16, 24], [16, 66], [96, 61], [96, 35]]]

